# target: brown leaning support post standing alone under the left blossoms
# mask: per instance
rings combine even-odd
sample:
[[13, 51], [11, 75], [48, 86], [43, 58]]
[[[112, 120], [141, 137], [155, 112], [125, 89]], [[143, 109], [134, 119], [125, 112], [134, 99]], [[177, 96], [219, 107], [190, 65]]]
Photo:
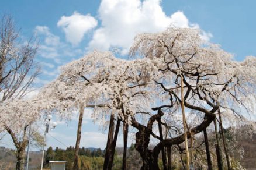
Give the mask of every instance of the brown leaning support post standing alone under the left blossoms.
[[82, 117], [84, 116], [84, 104], [80, 105], [80, 114], [79, 114], [79, 120], [78, 120], [78, 127], [77, 127], [77, 142], [75, 143], [75, 158], [74, 158], [74, 165], [73, 169], [77, 170], [78, 167], [78, 161], [79, 161], [79, 147], [80, 147], [80, 140], [81, 140], [81, 131], [82, 131]]

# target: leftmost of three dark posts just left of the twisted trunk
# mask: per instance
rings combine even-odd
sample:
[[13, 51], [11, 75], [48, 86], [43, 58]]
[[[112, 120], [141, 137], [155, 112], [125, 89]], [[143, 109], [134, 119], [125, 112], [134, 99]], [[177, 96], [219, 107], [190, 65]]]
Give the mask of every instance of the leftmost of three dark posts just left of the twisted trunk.
[[114, 119], [115, 119], [114, 115], [111, 114], [110, 122], [109, 122], [108, 141], [107, 141], [107, 145], [106, 145], [106, 152], [105, 152], [103, 170], [108, 169], [109, 155], [110, 155], [111, 150], [112, 150], [113, 133], [114, 133], [114, 126], [115, 126]]

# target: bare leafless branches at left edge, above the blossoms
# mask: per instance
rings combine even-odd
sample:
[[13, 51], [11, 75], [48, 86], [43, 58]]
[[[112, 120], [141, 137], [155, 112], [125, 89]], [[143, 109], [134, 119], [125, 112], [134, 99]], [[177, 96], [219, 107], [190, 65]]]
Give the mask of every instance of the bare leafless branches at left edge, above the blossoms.
[[31, 38], [23, 43], [11, 16], [0, 23], [0, 93], [2, 101], [22, 98], [29, 92], [40, 67], [34, 61], [37, 42]]

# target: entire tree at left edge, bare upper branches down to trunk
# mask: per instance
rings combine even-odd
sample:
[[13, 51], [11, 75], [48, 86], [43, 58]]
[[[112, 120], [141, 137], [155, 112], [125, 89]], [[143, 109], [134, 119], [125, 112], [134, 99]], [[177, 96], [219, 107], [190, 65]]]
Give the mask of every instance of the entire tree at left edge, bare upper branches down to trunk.
[[[0, 94], [1, 107], [10, 111], [1, 112], [1, 128], [4, 127], [17, 148], [17, 167], [23, 169], [24, 150], [27, 146], [27, 127], [32, 123], [36, 114], [29, 112], [32, 119], [27, 116], [24, 101], [11, 101], [15, 98], [24, 97], [31, 90], [33, 80], [37, 77], [40, 67], [34, 62], [37, 52], [37, 42], [31, 38], [27, 42], [20, 40], [19, 31], [16, 31], [12, 17], [5, 15], [0, 23]], [[7, 104], [7, 101], [9, 104]], [[11, 106], [11, 103], [15, 103]], [[4, 105], [4, 106], [3, 106]], [[34, 108], [34, 107], [33, 107]], [[18, 111], [16, 111], [16, 109]], [[7, 113], [8, 112], [8, 113]], [[37, 112], [37, 110], [35, 111]], [[27, 118], [28, 120], [22, 118]], [[12, 119], [13, 118], [13, 119]], [[23, 119], [25, 122], [20, 122]], [[10, 122], [6, 122], [9, 119]], [[15, 122], [17, 121], [17, 122]]]

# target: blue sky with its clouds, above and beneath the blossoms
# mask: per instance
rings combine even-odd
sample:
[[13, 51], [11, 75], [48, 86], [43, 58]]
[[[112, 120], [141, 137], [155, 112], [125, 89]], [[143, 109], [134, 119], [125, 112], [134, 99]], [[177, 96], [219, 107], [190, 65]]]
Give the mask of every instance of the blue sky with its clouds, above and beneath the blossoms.
[[[220, 44], [241, 61], [256, 54], [255, 6], [252, 0], [9, 0], [1, 2], [0, 15], [13, 17], [24, 40], [35, 34], [39, 39], [37, 62], [43, 70], [35, 86], [41, 87], [57, 77], [61, 65], [92, 49], [103, 51], [117, 46], [126, 58], [136, 33], [162, 31], [169, 24], [199, 27], [207, 40]], [[81, 147], [104, 148], [106, 132], [102, 134], [87, 113]], [[66, 146], [74, 146], [76, 119], [75, 115], [67, 125], [61, 123], [50, 135]], [[50, 135], [49, 146], [65, 148]], [[9, 142], [6, 140], [5, 144]], [[122, 140], [117, 146], [122, 146]]]

